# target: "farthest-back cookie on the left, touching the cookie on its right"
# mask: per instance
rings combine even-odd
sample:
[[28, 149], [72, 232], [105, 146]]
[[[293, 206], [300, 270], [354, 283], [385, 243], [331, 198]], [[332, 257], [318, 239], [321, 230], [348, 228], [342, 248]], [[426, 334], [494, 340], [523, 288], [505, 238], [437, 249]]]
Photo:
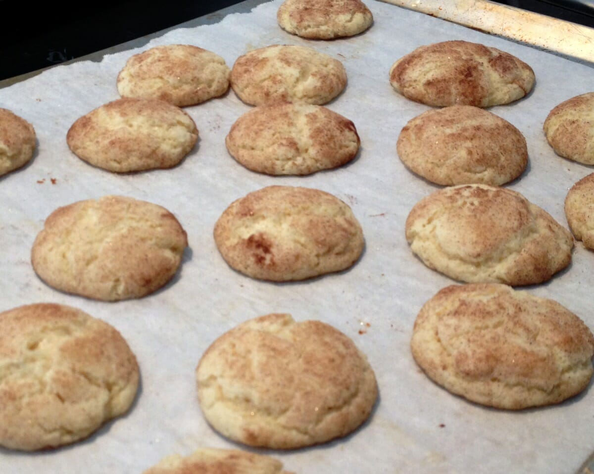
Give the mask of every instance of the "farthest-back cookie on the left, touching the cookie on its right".
[[128, 59], [118, 74], [122, 97], [160, 99], [179, 107], [225, 94], [230, 69], [225, 59], [191, 45], [156, 46]]

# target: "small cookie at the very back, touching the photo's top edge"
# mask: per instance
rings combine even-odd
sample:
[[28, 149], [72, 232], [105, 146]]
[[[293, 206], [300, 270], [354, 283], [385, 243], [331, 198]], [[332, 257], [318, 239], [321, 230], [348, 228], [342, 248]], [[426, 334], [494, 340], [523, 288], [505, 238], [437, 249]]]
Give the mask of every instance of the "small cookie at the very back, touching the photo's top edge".
[[289, 33], [323, 40], [354, 36], [373, 23], [361, 0], [285, 0], [276, 18]]

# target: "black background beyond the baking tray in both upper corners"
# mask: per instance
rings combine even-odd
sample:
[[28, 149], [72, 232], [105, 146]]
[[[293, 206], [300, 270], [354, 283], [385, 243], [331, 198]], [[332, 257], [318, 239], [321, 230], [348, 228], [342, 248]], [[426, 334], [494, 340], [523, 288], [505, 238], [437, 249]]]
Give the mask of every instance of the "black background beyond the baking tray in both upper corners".
[[[67, 7], [64, 1], [0, 0], [0, 80], [119, 45], [236, 3], [238, 0], [104, 0], [71, 2]], [[594, 27], [594, 0], [499, 3]]]

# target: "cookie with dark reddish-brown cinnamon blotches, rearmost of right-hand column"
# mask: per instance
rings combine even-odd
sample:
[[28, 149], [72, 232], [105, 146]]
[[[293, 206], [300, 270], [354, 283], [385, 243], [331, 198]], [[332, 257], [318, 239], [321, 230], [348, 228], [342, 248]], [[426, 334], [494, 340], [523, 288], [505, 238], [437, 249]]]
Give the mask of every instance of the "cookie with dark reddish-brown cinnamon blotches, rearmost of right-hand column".
[[421, 46], [390, 69], [396, 91], [438, 107], [507, 104], [529, 93], [534, 81], [532, 68], [516, 56], [460, 40]]

